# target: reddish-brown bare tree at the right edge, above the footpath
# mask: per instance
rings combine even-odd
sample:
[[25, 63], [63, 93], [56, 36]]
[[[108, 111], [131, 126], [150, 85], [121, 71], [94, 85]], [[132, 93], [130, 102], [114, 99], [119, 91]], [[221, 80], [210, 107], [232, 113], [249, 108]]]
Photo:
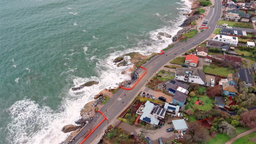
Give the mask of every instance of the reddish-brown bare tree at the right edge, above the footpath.
[[250, 128], [256, 127], [256, 110], [245, 112], [240, 115], [241, 120]]

